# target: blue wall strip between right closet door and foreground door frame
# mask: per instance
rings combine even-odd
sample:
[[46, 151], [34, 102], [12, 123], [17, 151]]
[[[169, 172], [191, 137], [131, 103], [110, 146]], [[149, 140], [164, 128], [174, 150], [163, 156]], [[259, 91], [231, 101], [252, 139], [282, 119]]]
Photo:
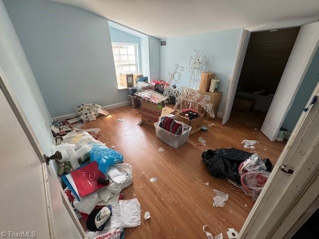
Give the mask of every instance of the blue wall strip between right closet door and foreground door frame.
[[[292, 104], [287, 116], [283, 122], [283, 127], [287, 128], [289, 132], [292, 132], [303, 109], [309, 101], [316, 85], [319, 82], [319, 49], [317, 50], [312, 63], [305, 75], [305, 78], [300, 85], [300, 88], [296, 94], [294, 103]], [[318, 104], [318, 103], [317, 103]]]

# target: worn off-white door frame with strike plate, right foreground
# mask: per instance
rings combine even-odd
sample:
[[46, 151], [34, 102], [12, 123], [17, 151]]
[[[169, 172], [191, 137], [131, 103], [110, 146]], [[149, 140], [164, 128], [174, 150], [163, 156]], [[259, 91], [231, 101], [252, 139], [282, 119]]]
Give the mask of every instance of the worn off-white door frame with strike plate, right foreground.
[[[308, 105], [318, 95], [319, 83]], [[299, 118], [238, 239], [289, 239], [298, 231], [319, 207], [318, 156], [319, 102]]]

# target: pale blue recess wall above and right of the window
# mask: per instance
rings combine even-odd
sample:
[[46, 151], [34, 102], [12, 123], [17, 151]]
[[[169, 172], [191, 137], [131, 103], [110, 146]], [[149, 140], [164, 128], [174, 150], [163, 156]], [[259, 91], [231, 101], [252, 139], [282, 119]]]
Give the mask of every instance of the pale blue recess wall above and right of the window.
[[138, 45], [138, 57], [139, 57], [139, 67], [140, 74], [142, 73], [142, 58], [141, 58], [141, 39], [138, 36], [134, 36], [127, 32], [110, 27], [110, 35], [112, 42], [123, 42], [123, 43], [136, 43]]

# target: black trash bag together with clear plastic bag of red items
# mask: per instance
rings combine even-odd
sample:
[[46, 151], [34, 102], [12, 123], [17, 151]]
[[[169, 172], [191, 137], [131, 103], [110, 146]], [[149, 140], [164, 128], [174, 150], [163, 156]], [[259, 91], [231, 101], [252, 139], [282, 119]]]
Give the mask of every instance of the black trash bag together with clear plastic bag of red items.
[[227, 178], [253, 200], [257, 199], [272, 170], [269, 159], [261, 160], [257, 153], [236, 148], [207, 149], [202, 153], [202, 160], [215, 178]]

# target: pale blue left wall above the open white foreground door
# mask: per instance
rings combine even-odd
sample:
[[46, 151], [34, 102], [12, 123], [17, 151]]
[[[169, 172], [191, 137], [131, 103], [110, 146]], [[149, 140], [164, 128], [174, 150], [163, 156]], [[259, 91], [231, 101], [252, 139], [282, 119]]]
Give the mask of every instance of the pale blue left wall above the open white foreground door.
[[[50, 145], [54, 142], [48, 128], [51, 116], [2, 0], [0, 32], [0, 76], [8, 82], [44, 153], [51, 155]], [[5, 138], [1, 139], [5, 143]]]

